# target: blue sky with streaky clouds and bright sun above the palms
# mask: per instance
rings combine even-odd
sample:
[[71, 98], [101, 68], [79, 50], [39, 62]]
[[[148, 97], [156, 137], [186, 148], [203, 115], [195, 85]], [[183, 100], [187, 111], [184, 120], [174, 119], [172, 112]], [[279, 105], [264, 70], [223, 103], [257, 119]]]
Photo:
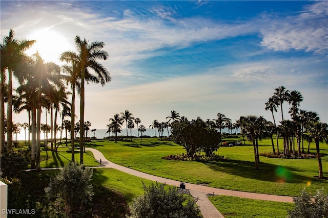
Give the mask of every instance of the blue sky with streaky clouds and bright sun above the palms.
[[[274, 89], [299, 91], [303, 110], [328, 123], [328, 2], [1, 1], [1, 39], [35, 39], [45, 61], [75, 51], [74, 38], [103, 41], [112, 77], [86, 86], [85, 120], [105, 129], [129, 110], [149, 127], [171, 110], [203, 120], [225, 114], [273, 121]], [[77, 104], [79, 104], [77, 98]], [[290, 105], [283, 104], [284, 117]], [[78, 109], [75, 111], [79, 117]], [[280, 108], [275, 113], [281, 120]], [[78, 118], [77, 118], [78, 119]], [[27, 115], [13, 114], [14, 122]], [[45, 122], [44, 122], [45, 123]]]

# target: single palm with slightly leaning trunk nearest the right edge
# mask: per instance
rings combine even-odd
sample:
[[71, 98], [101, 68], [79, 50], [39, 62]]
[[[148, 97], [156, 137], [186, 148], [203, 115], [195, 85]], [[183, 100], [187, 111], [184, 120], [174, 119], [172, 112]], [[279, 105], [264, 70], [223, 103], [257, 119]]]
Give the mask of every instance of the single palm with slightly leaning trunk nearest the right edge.
[[315, 122], [310, 122], [308, 125], [308, 132], [316, 143], [316, 150], [318, 156], [318, 165], [319, 165], [319, 179], [323, 179], [322, 173], [322, 162], [320, 156], [320, 147], [319, 143], [325, 141], [328, 144], [328, 125], [321, 123], [318, 120]]

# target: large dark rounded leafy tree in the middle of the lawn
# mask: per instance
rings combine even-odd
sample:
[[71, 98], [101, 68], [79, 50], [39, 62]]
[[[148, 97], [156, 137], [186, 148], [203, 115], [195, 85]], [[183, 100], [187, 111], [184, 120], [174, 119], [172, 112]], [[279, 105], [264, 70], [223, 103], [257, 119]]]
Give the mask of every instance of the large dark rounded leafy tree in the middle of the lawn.
[[221, 135], [208, 128], [200, 118], [191, 122], [174, 122], [171, 133], [173, 141], [186, 149], [188, 157], [194, 157], [199, 151], [211, 156], [218, 150], [221, 141]]

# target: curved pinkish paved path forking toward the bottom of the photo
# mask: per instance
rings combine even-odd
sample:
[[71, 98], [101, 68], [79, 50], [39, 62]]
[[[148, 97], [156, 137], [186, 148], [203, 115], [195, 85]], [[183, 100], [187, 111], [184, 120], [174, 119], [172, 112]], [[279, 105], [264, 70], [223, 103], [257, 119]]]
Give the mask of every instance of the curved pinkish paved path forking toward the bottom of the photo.
[[[93, 153], [94, 158], [100, 162], [101, 159], [101, 165], [103, 167], [108, 168], [114, 168], [119, 171], [141, 177], [144, 179], [149, 179], [152, 181], [160, 182], [160, 183], [166, 183], [168, 185], [174, 185], [174, 186], [180, 186], [179, 181], [166, 179], [146, 173], [142, 173], [139, 171], [136, 171], [135, 169], [131, 169], [129, 167], [121, 166], [116, 163], [113, 163], [105, 158], [103, 153], [96, 149], [86, 148], [86, 150], [89, 150]], [[252, 193], [252, 192], [244, 192], [244, 191], [234, 191], [234, 190], [226, 190], [221, 188], [213, 188], [203, 185], [196, 185], [191, 183], [185, 183], [186, 188], [190, 190], [190, 194], [194, 198], [198, 198], [198, 201], [196, 202], [199, 206], [200, 212], [203, 215], [204, 218], [221, 218], [224, 217], [217, 209], [216, 207], [211, 203], [211, 201], [207, 198], [206, 194], [211, 193], [214, 195], [224, 195], [224, 196], [233, 196], [233, 197], [239, 197], [239, 198], [248, 198], [248, 199], [255, 199], [255, 200], [265, 200], [265, 201], [277, 201], [277, 202], [289, 202], [293, 203], [293, 198], [289, 196], [276, 196], [276, 195], [265, 195], [260, 193]]]

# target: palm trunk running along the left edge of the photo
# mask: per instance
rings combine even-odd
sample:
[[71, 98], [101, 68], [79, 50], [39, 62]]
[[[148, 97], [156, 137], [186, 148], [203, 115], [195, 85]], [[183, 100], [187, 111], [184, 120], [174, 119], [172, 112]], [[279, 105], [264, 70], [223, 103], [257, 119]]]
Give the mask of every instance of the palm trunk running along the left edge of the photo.
[[1, 70], [0, 81], [0, 154], [5, 152], [5, 72]]

